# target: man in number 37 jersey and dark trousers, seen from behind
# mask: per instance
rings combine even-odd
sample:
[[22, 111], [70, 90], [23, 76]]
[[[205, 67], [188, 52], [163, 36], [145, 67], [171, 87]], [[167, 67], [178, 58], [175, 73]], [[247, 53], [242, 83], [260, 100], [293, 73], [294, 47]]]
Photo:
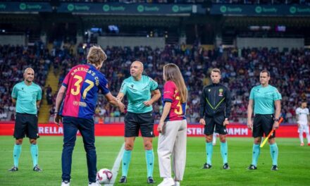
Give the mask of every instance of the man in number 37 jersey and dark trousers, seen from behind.
[[122, 112], [125, 109], [125, 106], [112, 96], [106, 77], [99, 71], [105, 60], [104, 51], [99, 46], [92, 46], [87, 55], [87, 64], [73, 67], [58, 91], [54, 122], [59, 125], [63, 118], [61, 185], [70, 185], [72, 154], [77, 130], [80, 130], [87, 154], [89, 185], [100, 185], [96, 182], [97, 155], [94, 147], [93, 119], [99, 89], [110, 104], [118, 106]]

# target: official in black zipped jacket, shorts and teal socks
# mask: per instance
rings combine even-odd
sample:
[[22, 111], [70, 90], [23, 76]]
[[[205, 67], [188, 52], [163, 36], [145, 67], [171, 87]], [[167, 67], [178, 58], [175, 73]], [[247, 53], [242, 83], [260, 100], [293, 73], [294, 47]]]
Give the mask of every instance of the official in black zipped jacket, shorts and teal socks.
[[229, 124], [228, 118], [231, 109], [230, 92], [227, 87], [220, 84], [220, 69], [213, 68], [211, 70], [211, 80], [212, 84], [204, 87], [200, 99], [199, 123], [204, 125], [204, 134], [206, 135], [206, 163], [202, 168], [212, 168], [212, 138], [215, 128], [215, 132], [220, 135], [223, 169], [229, 169], [226, 125]]

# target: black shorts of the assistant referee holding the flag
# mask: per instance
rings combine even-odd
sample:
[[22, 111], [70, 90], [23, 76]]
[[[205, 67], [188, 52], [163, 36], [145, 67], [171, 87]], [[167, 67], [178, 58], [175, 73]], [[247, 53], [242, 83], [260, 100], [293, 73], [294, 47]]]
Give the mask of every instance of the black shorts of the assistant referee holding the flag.
[[[255, 114], [253, 122], [253, 137], [263, 137], [263, 134], [267, 136], [271, 130], [273, 130], [273, 114]], [[270, 139], [275, 137], [275, 132], [269, 137]]]

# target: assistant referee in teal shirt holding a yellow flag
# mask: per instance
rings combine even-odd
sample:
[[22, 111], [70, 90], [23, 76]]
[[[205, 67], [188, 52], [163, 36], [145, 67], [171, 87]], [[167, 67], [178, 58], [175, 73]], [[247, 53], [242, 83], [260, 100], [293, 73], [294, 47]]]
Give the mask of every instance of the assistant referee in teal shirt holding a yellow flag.
[[[269, 85], [270, 73], [262, 70], [259, 75], [261, 85], [253, 87], [249, 95], [249, 105], [247, 107], [247, 127], [252, 129], [254, 144], [252, 154], [252, 164], [249, 170], [257, 169], [259, 159], [261, 137], [268, 135], [271, 130], [279, 127], [279, 117], [281, 111], [281, 94], [278, 89]], [[252, 123], [252, 113], [254, 106], [254, 122]], [[275, 132], [269, 137], [270, 153], [273, 165], [271, 171], [278, 171], [278, 146], [275, 143]]]

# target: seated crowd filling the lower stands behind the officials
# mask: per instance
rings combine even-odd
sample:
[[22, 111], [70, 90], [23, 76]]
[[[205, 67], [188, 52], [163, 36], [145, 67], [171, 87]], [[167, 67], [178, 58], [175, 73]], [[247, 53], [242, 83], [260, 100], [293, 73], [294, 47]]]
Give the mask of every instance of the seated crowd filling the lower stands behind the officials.
[[[77, 46], [73, 49], [53, 49], [51, 55], [44, 45], [29, 49], [23, 46], [0, 46], [0, 117], [3, 113], [13, 110], [11, 103], [11, 89], [13, 85], [23, 80], [23, 69], [27, 66], [35, 68], [37, 82], [42, 87], [49, 63], [60, 72], [59, 86], [70, 68], [78, 63], [87, 63], [86, 54], [89, 46]], [[148, 46], [107, 47], [104, 49], [108, 59], [101, 68], [101, 72], [109, 80], [109, 89], [117, 95], [123, 80], [130, 76], [130, 64], [139, 60], [144, 63], [144, 73], [159, 83], [163, 88], [162, 67], [165, 63], [175, 63], [180, 67], [185, 78], [190, 97], [187, 102], [187, 118], [191, 123], [199, 120], [199, 100], [202, 87], [211, 83], [209, 73], [211, 68], [220, 68], [222, 82], [229, 87], [233, 96], [233, 109], [230, 120], [246, 123], [249, 90], [259, 85], [259, 72], [263, 69], [271, 71], [271, 85], [278, 87], [283, 96], [282, 114], [285, 121], [294, 123], [295, 109], [302, 100], [310, 99], [310, 51], [306, 49], [292, 49], [278, 51], [278, 49], [218, 49], [207, 50], [202, 46], [166, 45], [164, 49], [151, 49]], [[47, 85], [46, 91], [51, 94]], [[47, 94], [44, 94], [47, 95]], [[46, 96], [53, 104], [55, 95]], [[154, 116], [160, 118], [163, 109], [161, 101], [154, 104]], [[103, 96], [99, 97], [96, 109], [97, 117], [123, 116], [118, 109], [106, 103]], [[10, 120], [13, 116], [6, 116]], [[1, 118], [0, 118], [1, 120]]]

